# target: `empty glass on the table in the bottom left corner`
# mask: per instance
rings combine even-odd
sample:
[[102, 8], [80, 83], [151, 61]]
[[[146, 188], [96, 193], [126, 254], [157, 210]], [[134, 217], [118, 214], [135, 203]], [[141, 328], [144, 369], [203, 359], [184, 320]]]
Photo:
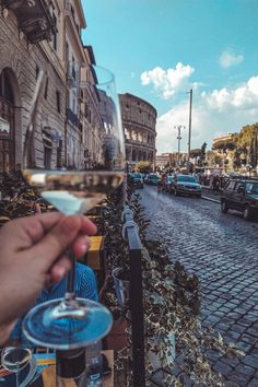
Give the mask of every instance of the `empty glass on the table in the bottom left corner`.
[[19, 374], [30, 363], [32, 352], [25, 348], [7, 347], [1, 352], [3, 368], [15, 374], [15, 385], [20, 386]]

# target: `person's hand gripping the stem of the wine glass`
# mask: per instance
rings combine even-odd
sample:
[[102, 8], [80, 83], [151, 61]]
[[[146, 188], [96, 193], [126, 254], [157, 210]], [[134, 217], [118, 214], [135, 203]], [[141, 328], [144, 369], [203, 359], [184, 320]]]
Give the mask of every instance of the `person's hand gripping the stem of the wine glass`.
[[16, 319], [34, 305], [44, 286], [59, 282], [71, 265], [66, 249], [77, 257], [90, 247], [96, 226], [83, 215], [59, 212], [8, 222], [0, 231], [0, 342]]

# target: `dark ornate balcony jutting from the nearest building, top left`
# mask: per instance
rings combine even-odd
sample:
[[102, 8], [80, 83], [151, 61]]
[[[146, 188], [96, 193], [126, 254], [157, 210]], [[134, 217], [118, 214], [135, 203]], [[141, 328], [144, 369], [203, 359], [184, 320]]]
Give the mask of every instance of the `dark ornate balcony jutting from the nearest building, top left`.
[[12, 10], [19, 28], [31, 44], [50, 40], [56, 30], [50, 0], [0, 0], [3, 8]]

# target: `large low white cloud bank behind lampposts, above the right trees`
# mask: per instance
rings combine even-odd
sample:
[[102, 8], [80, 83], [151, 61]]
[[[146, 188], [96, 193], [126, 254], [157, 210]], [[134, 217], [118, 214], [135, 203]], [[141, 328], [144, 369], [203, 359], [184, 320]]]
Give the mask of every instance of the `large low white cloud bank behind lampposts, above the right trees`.
[[[248, 124], [258, 121], [258, 75], [246, 83], [228, 90], [223, 87], [210, 93], [194, 91], [191, 148], [200, 148], [212, 139], [227, 132], [239, 131]], [[159, 117], [156, 122], [157, 153], [177, 150], [177, 131], [174, 126], [184, 125], [181, 151], [187, 151], [189, 122], [189, 98]]]

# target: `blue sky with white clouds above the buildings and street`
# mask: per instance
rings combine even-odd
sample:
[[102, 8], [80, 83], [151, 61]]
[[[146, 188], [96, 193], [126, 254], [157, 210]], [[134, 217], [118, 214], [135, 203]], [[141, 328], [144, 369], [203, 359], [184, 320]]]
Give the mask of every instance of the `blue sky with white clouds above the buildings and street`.
[[97, 64], [157, 110], [157, 154], [258, 121], [258, 0], [81, 0]]

